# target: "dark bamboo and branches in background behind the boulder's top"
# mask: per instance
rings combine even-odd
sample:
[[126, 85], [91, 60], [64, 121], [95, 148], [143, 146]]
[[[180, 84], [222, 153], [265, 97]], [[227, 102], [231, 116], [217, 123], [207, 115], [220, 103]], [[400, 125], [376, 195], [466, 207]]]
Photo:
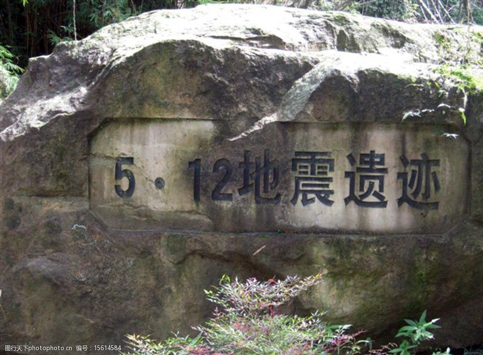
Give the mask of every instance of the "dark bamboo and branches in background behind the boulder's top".
[[[285, 6], [359, 12], [418, 22], [483, 24], [483, 0], [240, 0]], [[0, 0], [0, 45], [20, 67], [49, 54], [62, 40], [84, 38], [99, 28], [155, 9], [193, 7], [216, 0]], [[74, 35], [74, 4], [76, 34]], [[1, 60], [1, 58], [0, 58]]]

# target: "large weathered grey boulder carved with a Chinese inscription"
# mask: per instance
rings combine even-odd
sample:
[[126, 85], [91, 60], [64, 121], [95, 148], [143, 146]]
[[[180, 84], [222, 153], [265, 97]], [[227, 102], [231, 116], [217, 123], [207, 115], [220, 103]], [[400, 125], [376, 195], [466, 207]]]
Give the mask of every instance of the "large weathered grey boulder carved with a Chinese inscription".
[[[318, 272], [293, 311], [385, 339], [427, 308], [435, 345], [481, 343], [482, 38], [203, 5], [32, 58], [0, 106], [2, 349], [190, 332], [223, 274]], [[333, 190], [297, 194], [301, 161]], [[365, 163], [383, 184], [349, 195]]]

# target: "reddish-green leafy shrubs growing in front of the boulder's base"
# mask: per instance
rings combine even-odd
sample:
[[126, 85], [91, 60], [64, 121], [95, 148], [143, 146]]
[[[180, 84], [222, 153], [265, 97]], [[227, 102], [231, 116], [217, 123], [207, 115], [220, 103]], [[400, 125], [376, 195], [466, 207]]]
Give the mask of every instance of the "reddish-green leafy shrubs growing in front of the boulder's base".
[[[216, 308], [213, 318], [194, 327], [196, 337], [173, 337], [157, 342], [150, 337], [128, 335], [127, 343], [135, 355], [331, 355], [331, 354], [397, 354], [413, 355], [425, 340], [432, 339], [432, 329], [438, 319], [426, 321], [426, 311], [420, 319], [406, 320], [396, 337], [404, 339], [372, 350], [370, 339], [358, 340], [361, 332], [349, 334], [350, 325], [330, 325], [323, 314], [309, 317], [278, 314], [281, 306], [301, 292], [321, 282], [321, 275], [307, 278], [287, 277], [260, 282], [248, 279], [240, 282], [224, 275], [218, 286], [205, 290], [207, 299]], [[433, 355], [449, 355], [435, 352]]]

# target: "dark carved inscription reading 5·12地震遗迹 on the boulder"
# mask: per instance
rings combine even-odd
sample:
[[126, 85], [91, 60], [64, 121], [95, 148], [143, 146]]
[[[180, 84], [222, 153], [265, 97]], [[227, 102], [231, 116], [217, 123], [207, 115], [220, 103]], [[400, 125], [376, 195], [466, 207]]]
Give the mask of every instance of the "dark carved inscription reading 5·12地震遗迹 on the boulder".
[[[354, 202], [357, 206], [372, 207], [372, 208], [386, 208], [387, 201], [384, 193], [384, 175], [387, 174], [387, 168], [376, 168], [376, 165], [384, 166], [384, 154], [375, 154], [373, 150], [368, 154], [360, 154], [360, 165], [365, 167], [357, 167], [356, 171], [346, 171], [345, 177], [350, 179], [349, 195], [344, 198], [347, 205]], [[276, 192], [273, 197], [264, 196], [275, 190], [279, 185], [280, 179], [280, 163], [278, 160], [270, 161], [270, 149], [265, 149], [263, 160], [261, 157], [255, 158], [255, 163], [250, 160], [251, 152], [246, 150], [244, 153], [244, 161], [240, 161], [239, 167], [243, 168], [243, 186], [238, 191], [238, 195], [246, 195], [254, 192], [254, 200], [256, 204], [273, 204], [280, 203], [281, 194]], [[296, 172], [294, 176], [294, 192], [290, 202], [295, 205], [302, 196], [301, 203], [307, 206], [315, 202], [315, 199], [326, 206], [332, 206], [334, 201], [330, 200], [330, 195], [334, 194], [334, 190], [329, 190], [332, 177], [328, 177], [329, 172], [334, 171], [334, 159], [330, 159], [330, 152], [295, 152], [295, 157], [292, 159], [291, 170]], [[430, 197], [431, 176], [435, 192], [440, 190], [438, 176], [435, 171], [429, 175], [432, 165], [439, 166], [439, 160], [429, 160], [427, 155], [421, 155], [422, 160], [411, 160], [411, 164], [417, 166], [417, 170], [411, 171], [411, 179], [407, 182], [407, 173], [398, 173], [397, 178], [403, 180], [402, 196], [398, 198], [398, 206], [407, 203], [412, 208], [419, 210], [430, 209], [437, 210], [439, 202], [417, 202], [409, 198], [407, 188], [414, 188], [412, 196], [417, 198], [421, 189], [424, 187], [422, 197], [427, 200]], [[351, 165], [355, 165], [356, 160], [352, 154], [347, 156]], [[376, 160], [377, 159], [377, 160]], [[405, 167], [409, 164], [405, 156], [401, 157]], [[262, 163], [263, 161], [263, 163]], [[128, 169], [121, 169], [122, 164], [134, 164], [133, 157], [118, 157], [116, 158], [115, 176], [116, 180], [126, 177], [129, 181], [127, 190], [122, 190], [120, 185], [116, 184], [114, 189], [116, 194], [122, 198], [129, 198], [134, 193], [135, 178], [133, 173]], [[253, 168], [254, 166], [254, 168]], [[201, 159], [196, 159], [188, 163], [188, 167], [193, 169], [193, 199], [200, 201], [201, 195]], [[216, 160], [213, 165], [213, 173], [224, 171], [222, 179], [218, 182], [212, 192], [213, 201], [232, 201], [233, 194], [222, 193], [223, 188], [231, 181], [233, 177], [233, 165], [225, 158]], [[357, 175], [356, 175], [357, 174]], [[356, 195], [356, 177], [359, 181], [358, 192]], [[423, 177], [425, 177], [423, 179]], [[158, 177], [157, 179], [161, 179]], [[415, 182], [416, 181], [416, 182]], [[157, 186], [157, 188], [162, 188]], [[262, 188], [263, 187], [263, 188]], [[262, 195], [264, 194], [264, 195]], [[310, 197], [311, 196], [311, 197]], [[373, 196], [376, 201], [366, 201], [370, 196]]]

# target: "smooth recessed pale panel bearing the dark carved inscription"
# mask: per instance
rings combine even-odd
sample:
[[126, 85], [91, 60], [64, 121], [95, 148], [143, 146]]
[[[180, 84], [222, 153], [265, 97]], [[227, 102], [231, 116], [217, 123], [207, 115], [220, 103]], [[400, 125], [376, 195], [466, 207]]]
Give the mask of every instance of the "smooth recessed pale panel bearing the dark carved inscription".
[[469, 148], [432, 125], [111, 121], [93, 137], [91, 210], [109, 227], [439, 233], [464, 215]]

